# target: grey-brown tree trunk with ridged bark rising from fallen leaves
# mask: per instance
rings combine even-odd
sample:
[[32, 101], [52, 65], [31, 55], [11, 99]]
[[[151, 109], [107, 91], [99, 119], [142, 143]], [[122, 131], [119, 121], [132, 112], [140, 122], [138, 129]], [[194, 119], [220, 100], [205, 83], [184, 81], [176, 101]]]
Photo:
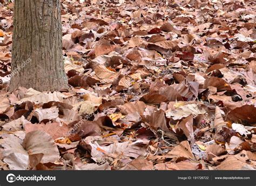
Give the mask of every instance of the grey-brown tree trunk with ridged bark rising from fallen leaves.
[[59, 0], [15, 0], [11, 70], [9, 91], [68, 87]]

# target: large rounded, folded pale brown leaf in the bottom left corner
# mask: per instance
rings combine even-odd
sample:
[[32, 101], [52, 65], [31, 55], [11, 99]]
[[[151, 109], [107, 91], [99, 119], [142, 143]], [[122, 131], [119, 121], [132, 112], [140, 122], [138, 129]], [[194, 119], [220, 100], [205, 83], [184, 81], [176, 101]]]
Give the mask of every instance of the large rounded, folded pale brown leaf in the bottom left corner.
[[5, 150], [4, 161], [11, 170], [25, 170], [32, 154], [44, 154], [43, 163], [59, 160], [59, 151], [51, 136], [40, 130], [26, 134], [22, 145], [18, 137], [9, 135], [2, 146]]

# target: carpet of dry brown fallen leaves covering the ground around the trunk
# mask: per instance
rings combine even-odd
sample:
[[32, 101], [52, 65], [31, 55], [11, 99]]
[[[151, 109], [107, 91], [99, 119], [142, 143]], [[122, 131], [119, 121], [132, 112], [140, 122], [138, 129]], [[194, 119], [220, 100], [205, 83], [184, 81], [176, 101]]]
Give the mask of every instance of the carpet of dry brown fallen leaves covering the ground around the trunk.
[[11, 93], [1, 2], [1, 169], [256, 168], [255, 2], [62, 1], [70, 89]]

